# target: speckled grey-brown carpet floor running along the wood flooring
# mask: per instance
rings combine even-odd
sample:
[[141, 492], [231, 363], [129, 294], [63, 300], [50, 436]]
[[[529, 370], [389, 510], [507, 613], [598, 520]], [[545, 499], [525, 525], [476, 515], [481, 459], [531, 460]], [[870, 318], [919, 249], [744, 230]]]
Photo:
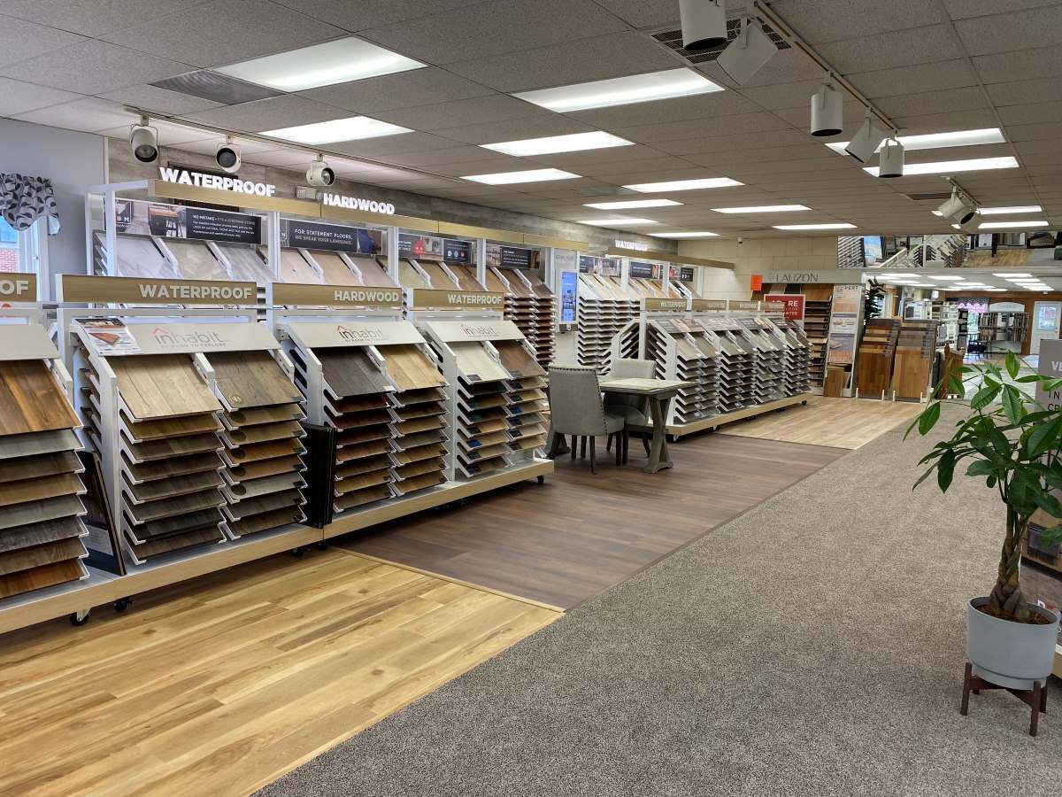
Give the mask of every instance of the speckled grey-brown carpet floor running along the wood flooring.
[[1003, 511], [964, 477], [946, 496], [912, 494], [931, 443], [902, 435], [260, 794], [1058, 794], [1056, 679], [1039, 739], [1005, 693], [958, 713], [964, 601], [992, 586]]

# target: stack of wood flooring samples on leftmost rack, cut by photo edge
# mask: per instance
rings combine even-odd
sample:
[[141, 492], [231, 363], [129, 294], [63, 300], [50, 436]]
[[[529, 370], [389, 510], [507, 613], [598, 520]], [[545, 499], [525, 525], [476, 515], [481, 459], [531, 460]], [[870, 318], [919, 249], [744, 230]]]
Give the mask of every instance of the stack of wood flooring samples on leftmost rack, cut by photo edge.
[[88, 576], [80, 425], [44, 358], [0, 361], [0, 597]]

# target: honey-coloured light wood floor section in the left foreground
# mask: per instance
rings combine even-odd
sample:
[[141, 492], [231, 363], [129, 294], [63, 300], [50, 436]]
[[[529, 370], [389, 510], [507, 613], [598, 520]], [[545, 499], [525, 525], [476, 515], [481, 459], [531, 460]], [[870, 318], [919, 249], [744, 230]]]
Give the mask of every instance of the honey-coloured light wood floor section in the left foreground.
[[16, 631], [0, 795], [244, 795], [558, 616], [332, 548]]

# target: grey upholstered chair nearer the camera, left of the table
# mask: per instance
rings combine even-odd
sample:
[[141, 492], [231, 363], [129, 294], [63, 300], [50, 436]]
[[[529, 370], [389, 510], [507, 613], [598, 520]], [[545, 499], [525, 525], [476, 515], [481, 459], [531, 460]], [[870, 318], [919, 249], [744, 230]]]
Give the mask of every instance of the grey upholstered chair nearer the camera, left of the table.
[[[554, 435], [571, 435], [571, 458], [576, 458], [577, 439], [586, 456], [590, 441], [590, 473], [597, 473], [595, 438], [623, 430], [623, 419], [606, 412], [598, 387], [597, 371], [588, 366], [549, 367], [549, 412]], [[616, 464], [619, 464], [618, 458]]]

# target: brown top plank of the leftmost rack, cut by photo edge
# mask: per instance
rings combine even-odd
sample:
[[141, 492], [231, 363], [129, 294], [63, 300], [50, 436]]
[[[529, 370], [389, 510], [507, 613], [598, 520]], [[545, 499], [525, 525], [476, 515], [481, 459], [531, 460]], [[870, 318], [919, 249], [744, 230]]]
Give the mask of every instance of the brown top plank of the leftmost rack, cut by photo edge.
[[0, 435], [81, 426], [44, 360], [0, 361]]

